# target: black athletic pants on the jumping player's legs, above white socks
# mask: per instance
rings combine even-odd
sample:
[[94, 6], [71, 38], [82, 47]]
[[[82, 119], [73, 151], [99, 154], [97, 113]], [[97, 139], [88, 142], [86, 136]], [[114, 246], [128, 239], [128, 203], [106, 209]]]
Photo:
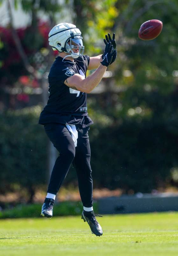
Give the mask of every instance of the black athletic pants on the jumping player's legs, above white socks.
[[93, 180], [90, 167], [89, 127], [81, 128], [76, 124], [78, 132], [77, 147], [65, 124], [45, 124], [45, 132], [60, 155], [56, 159], [48, 186], [48, 193], [57, 194], [63, 183], [71, 163], [78, 177], [79, 192], [83, 206], [91, 207], [93, 203]]

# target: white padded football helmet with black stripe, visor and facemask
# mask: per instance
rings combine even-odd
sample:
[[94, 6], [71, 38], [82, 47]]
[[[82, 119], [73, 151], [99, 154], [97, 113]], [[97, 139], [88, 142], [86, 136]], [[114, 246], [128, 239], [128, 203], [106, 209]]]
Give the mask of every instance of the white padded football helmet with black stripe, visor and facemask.
[[[67, 56], [76, 59], [84, 52], [81, 32], [75, 25], [59, 23], [49, 32], [49, 45], [53, 51], [68, 52]], [[66, 57], [67, 57], [66, 56]]]

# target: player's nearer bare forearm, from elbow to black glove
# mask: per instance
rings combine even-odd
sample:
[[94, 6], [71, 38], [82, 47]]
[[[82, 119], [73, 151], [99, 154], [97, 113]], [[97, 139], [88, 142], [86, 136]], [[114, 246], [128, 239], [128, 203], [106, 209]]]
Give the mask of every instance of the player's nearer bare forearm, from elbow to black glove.
[[106, 66], [102, 64], [92, 73], [90, 76], [82, 80], [81, 89], [83, 92], [90, 93], [101, 81], [104, 72], [106, 71]]

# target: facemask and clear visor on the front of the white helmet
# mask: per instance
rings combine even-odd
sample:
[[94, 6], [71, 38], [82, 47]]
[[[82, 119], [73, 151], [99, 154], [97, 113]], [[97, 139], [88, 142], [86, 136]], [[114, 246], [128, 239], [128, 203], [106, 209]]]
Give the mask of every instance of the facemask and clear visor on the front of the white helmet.
[[82, 42], [82, 36], [73, 36], [66, 42], [66, 52], [70, 53], [72, 58], [77, 59], [83, 55], [84, 46]]

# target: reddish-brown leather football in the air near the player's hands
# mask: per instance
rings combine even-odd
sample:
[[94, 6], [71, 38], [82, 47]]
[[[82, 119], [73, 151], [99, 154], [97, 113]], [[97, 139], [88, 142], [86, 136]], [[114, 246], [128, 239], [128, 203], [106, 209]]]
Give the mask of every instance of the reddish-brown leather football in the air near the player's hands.
[[139, 29], [139, 38], [142, 40], [152, 40], [160, 35], [162, 30], [162, 21], [148, 20], [144, 22]]

